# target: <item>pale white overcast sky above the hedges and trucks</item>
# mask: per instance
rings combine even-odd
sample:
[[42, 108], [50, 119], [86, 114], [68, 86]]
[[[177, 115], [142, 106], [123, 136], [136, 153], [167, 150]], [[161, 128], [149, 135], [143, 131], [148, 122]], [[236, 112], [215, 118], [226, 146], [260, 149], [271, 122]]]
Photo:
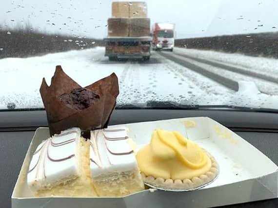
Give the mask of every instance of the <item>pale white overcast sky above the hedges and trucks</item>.
[[[6, 29], [29, 21], [42, 32], [104, 38], [112, 1], [0, 0], [0, 25]], [[152, 24], [175, 23], [177, 38], [278, 31], [278, 0], [145, 1]]]

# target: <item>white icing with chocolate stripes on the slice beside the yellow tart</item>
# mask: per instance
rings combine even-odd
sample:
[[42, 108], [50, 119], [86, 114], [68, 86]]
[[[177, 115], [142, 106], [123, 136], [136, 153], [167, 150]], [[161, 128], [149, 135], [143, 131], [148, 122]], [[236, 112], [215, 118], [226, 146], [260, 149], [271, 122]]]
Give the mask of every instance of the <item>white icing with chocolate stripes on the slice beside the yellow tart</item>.
[[90, 169], [92, 177], [107, 172], [137, 168], [135, 154], [128, 144], [125, 127], [91, 132]]

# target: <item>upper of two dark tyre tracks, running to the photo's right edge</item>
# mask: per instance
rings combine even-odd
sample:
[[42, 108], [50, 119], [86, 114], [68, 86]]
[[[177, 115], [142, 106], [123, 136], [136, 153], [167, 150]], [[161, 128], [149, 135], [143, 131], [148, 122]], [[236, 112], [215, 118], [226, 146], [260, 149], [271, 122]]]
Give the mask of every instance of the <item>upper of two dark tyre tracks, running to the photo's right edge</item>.
[[265, 81], [274, 82], [276, 84], [278, 83], [278, 78], [276, 78], [276, 77], [267, 76], [267, 75], [256, 73], [256, 72], [251, 72], [249, 70], [245, 70], [245, 69], [238, 68], [238, 67], [235, 67], [235, 66], [226, 65], [226, 64], [223, 64], [223, 63], [219, 63], [219, 62], [216, 62], [216, 61], [211, 61], [211, 60], [207, 60], [207, 59], [203, 59], [203, 58], [199, 58], [199, 57], [188, 56], [188, 55], [181, 54], [181, 53], [176, 53], [176, 52], [174, 54], [178, 55], [178, 56], [186, 57], [186, 58], [189, 58], [189, 59], [193, 59], [193, 60], [198, 61], [200, 63], [208, 64], [208, 65], [211, 65], [211, 66], [214, 66], [214, 67], [226, 70], [226, 71], [235, 72], [235, 73], [238, 73], [238, 74], [241, 74], [241, 75], [252, 76], [252, 77], [255, 77], [255, 78], [263, 79]]

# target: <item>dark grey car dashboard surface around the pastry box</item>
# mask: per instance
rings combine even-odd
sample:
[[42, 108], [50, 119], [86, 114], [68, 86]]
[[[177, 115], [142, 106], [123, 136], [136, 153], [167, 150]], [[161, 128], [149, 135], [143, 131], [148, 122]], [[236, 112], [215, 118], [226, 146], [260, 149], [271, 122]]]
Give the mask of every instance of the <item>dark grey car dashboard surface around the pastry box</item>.
[[[278, 165], [278, 114], [196, 110], [116, 110], [110, 124], [178, 117], [209, 116], [231, 128]], [[0, 112], [0, 208], [11, 207], [11, 194], [34, 130], [47, 126], [44, 111]], [[224, 206], [277, 208], [278, 199]]]

